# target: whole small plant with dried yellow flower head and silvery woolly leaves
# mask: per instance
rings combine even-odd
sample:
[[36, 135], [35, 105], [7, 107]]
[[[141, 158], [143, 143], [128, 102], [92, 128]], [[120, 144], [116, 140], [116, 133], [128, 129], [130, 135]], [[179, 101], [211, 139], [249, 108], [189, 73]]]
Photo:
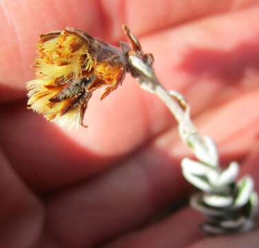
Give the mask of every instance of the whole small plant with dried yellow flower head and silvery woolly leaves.
[[[76, 129], [93, 92], [105, 86], [104, 99], [121, 85], [126, 72], [137, 79], [144, 90], [156, 94], [178, 121], [180, 137], [194, 152], [196, 160], [183, 158], [183, 176], [200, 192], [191, 197], [191, 206], [205, 214], [201, 225], [207, 234], [229, 234], [253, 229], [258, 214], [258, 196], [253, 180], [244, 176], [236, 181], [238, 163], [222, 169], [214, 141], [201, 136], [190, 118], [184, 97], [167, 91], [154, 73], [152, 54], [145, 54], [138, 39], [126, 25], [123, 30], [131, 45], [120, 48], [94, 39], [86, 32], [65, 28], [41, 34], [34, 67], [37, 79], [29, 81], [28, 107], [48, 121]], [[85, 125], [83, 125], [85, 126]]]

